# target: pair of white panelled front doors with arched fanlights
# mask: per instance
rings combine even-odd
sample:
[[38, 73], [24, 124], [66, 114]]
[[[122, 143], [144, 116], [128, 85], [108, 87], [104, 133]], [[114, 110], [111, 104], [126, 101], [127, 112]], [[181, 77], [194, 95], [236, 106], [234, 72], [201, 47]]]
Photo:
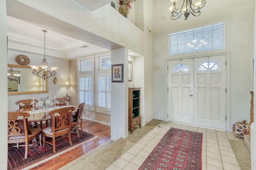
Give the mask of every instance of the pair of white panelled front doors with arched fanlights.
[[226, 129], [226, 56], [168, 61], [168, 121]]

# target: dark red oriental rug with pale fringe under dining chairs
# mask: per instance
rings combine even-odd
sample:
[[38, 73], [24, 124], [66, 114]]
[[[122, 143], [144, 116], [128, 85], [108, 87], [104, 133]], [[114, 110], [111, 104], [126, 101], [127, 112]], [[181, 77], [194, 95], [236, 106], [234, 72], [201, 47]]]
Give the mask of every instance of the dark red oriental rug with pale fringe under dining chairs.
[[[43, 162], [46, 162], [54, 157], [59, 156], [60, 154], [63, 154], [68, 150], [71, 150], [75, 147], [78, 147], [79, 145], [82, 145], [88, 141], [91, 141], [92, 139], [97, 138], [97, 136], [94, 136], [87, 132], [82, 132], [80, 130], [79, 134], [80, 137], [78, 137], [76, 133], [71, 133], [71, 139], [73, 144], [71, 146], [69, 145], [68, 137], [56, 141], [55, 153], [53, 153], [52, 145], [48, 143], [45, 144], [44, 148], [40, 147], [39, 144], [35, 145], [34, 147], [28, 150], [27, 159], [24, 159], [25, 147], [19, 147], [18, 149], [16, 147], [12, 147], [11, 149], [8, 150], [8, 170], [32, 168], [34, 166], [37, 166], [38, 164], [42, 164]], [[46, 137], [46, 140], [52, 141], [52, 138]], [[13, 144], [9, 144], [8, 147], [10, 148], [11, 145]]]

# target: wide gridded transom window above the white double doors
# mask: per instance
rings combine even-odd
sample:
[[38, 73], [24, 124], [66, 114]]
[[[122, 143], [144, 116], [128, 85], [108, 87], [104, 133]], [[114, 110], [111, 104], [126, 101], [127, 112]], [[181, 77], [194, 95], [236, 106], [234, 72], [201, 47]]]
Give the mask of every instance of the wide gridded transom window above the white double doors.
[[224, 23], [169, 34], [170, 55], [224, 49]]

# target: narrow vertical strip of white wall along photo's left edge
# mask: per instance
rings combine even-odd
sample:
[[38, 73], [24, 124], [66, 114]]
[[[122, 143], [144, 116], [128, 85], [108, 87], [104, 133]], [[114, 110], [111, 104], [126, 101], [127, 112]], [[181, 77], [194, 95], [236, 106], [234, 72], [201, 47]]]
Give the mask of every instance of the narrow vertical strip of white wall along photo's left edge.
[[7, 169], [7, 30], [6, 30], [6, 1], [0, 0], [0, 103], [1, 103], [1, 139], [0, 139], [0, 167]]

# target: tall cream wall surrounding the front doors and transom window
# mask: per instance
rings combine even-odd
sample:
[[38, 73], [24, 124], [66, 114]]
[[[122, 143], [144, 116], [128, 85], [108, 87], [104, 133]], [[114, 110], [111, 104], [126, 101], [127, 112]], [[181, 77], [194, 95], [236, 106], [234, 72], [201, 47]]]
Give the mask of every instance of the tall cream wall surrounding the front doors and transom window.
[[201, 10], [201, 16], [191, 15], [187, 21], [184, 21], [184, 16], [178, 20], [170, 18], [170, 1], [160, 0], [155, 4], [154, 118], [164, 120], [166, 115], [165, 59], [179, 56], [168, 55], [168, 34], [224, 22], [225, 49], [214, 53], [230, 51], [230, 128], [237, 121], [249, 120], [253, 84], [253, 3], [246, 1], [241, 6], [240, 0], [208, 0]]

